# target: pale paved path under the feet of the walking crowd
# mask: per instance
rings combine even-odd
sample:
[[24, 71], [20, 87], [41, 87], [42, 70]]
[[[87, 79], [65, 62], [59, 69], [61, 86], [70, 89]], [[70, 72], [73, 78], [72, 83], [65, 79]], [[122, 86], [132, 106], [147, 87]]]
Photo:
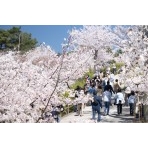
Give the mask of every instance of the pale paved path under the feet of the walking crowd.
[[[117, 115], [117, 106], [110, 107], [110, 115], [103, 116], [103, 110], [101, 109], [101, 122], [100, 123], [133, 123], [134, 116], [129, 115], [129, 107], [122, 108], [122, 114]], [[75, 116], [76, 113], [70, 113], [61, 119], [61, 123], [97, 123], [91, 120], [92, 111], [91, 106], [86, 106], [83, 116]], [[97, 117], [97, 114], [96, 114]]]

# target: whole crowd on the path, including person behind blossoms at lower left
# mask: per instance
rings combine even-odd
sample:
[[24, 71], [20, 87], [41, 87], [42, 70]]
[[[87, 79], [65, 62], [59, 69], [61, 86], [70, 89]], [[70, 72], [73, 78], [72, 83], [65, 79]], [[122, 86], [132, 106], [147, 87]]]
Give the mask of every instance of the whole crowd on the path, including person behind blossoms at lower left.
[[[77, 86], [75, 89], [75, 99], [81, 98], [81, 101], [77, 101], [74, 105], [74, 112], [76, 112], [76, 116], [83, 116], [83, 109], [85, 108], [85, 105], [92, 106], [91, 119], [96, 120], [97, 114], [98, 122], [101, 121], [101, 108], [104, 108], [103, 115], [107, 116], [110, 113], [110, 106], [112, 105], [117, 106], [118, 115], [122, 114], [123, 105], [129, 106], [130, 115], [134, 115], [136, 102], [135, 92], [133, 90], [128, 92], [125, 91], [125, 94], [123, 94], [119, 80], [114, 80], [114, 74], [110, 73], [109, 70], [106, 72], [105, 77], [102, 73], [98, 76], [94, 76], [92, 79], [89, 76], [86, 76], [85, 82], [84, 88]], [[85, 104], [82, 100], [83, 96], [87, 94], [91, 96], [92, 100]], [[60, 122], [60, 113], [63, 110], [64, 107], [61, 105], [55, 107], [53, 106], [53, 111], [51, 113], [56, 122]]]

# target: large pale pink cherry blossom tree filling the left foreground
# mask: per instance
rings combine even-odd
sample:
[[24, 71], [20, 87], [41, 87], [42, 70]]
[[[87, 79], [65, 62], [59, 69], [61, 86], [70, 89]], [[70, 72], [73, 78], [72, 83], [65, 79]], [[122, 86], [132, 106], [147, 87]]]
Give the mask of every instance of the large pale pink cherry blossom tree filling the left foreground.
[[52, 106], [72, 104], [70, 98], [63, 99], [60, 94], [67, 89], [65, 81], [76, 80], [89, 68], [85, 63], [88, 56], [81, 56], [66, 52], [57, 56], [49, 47], [38, 47], [25, 55], [2, 54], [1, 122], [47, 122], [44, 117]]

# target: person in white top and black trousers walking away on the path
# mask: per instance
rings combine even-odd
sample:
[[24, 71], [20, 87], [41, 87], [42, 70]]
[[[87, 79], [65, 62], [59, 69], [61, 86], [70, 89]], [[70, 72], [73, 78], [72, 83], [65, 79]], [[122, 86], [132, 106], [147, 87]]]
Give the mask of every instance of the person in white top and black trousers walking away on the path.
[[118, 89], [118, 93], [115, 95], [115, 100], [117, 105], [117, 113], [120, 115], [122, 114], [122, 104], [125, 102], [121, 88]]

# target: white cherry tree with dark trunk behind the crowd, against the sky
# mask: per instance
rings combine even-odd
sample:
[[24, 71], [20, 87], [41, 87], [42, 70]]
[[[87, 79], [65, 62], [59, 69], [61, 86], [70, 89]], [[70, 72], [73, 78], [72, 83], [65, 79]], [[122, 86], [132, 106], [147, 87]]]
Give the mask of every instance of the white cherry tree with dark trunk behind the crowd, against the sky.
[[70, 49], [82, 52], [91, 52], [94, 70], [97, 65], [102, 66], [113, 58], [113, 54], [107, 52], [108, 48], [113, 48], [115, 43], [120, 42], [120, 38], [111, 31], [111, 26], [83, 26], [82, 29], [73, 29], [70, 33]]

